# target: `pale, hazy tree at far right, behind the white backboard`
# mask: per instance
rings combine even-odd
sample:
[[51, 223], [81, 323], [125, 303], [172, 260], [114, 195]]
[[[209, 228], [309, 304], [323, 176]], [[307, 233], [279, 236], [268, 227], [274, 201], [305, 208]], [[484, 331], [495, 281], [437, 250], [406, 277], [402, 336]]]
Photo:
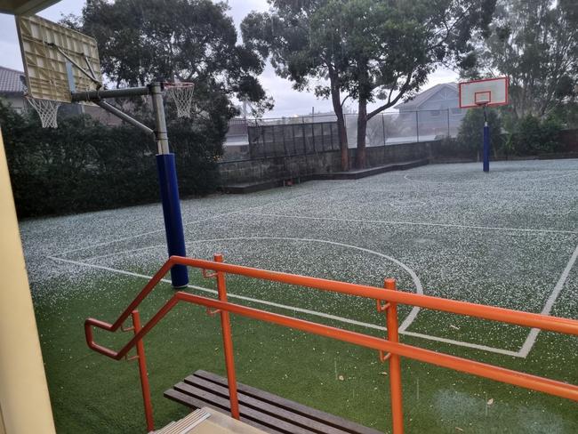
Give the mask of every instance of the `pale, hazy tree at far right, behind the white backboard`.
[[463, 75], [510, 77], [515, 121], [547, 117], [576, 96], [578, 4], [575, 0], [500, 0], [489, 37]]

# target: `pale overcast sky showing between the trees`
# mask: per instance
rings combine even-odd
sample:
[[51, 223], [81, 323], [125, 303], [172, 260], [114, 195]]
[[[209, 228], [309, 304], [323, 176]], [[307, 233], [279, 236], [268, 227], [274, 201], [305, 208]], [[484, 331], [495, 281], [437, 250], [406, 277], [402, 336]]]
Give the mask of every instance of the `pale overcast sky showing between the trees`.
[[[62, 15], [68, 13], [80, 14], [84, 2], [79, 0], [62, 0], [58, 4], [40, 12], [39, 15], [57, 21]], [[265, 11], [268, 8], [267, 0], [229, 0], [229, 14], [235, 20], [237, 28], [245, 15], [253, 10]], [[6, 68], [22, 69], [20, 46], [16, 35], [14, 18], [11, 15], [0, 13], [0, 66]], [[429, 83], [424, 89], [439, 83], [455, 81], [457, 74], [446, 69], [439, 69], [429, 76]], [[276, 76], [270, 65], [261, 76], [261, 83], [269, 94], [275, 99], [275, 109], [265, 117], [286, 117], [310, 113], [312, 108], [317, 112], [332, 111], [329, 100], [317, 100], [315, 95], [309, 92], [296, 92], [291, 83]]]

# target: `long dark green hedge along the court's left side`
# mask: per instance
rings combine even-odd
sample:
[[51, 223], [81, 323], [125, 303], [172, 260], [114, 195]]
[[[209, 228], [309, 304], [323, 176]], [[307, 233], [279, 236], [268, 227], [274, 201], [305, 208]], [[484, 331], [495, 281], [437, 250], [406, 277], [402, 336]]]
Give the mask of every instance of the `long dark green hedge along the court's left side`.
[[[213, 123], [210, 123], [213, 124]], [[114, 208], [159, 199], [156, 144], [131, 126], [108, 127], [91, 117], [59, 119], [43, 129], [36, 113], [22, 116], [0, 100], [0, 125], [20, 218]], [[222, 127], [168, 125], [181, 196], [218, 185]]]

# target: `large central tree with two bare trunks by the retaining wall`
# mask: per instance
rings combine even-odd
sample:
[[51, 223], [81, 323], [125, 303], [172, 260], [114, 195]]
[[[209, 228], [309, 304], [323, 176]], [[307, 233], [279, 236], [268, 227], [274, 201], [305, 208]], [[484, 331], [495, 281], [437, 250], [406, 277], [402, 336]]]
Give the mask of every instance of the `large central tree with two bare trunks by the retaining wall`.
[[[279, 76], [317, 96], [331, 98], [337, 115], [342, 168], [347, 132], [342, 106], [358, 103], [357, 167], [365, 166], [367, 122], [401, 99], [411, 98], [429, 72], [461, 62], [473, 29], [484, 30], [495, 0], [272, 0], [269, 12], [248, 15], [245, 44], [271, 63]], [[369, 103], [381, 100], [367, 112]]]

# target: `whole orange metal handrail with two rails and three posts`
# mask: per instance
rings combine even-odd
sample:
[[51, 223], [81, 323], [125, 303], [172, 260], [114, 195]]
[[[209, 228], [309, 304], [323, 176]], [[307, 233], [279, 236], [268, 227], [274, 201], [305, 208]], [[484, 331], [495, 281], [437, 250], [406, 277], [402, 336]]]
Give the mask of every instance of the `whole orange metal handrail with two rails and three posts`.
[[[205, 277], [215, 277], [217, 280], [218, 300], [214, 300], [191, 293], [177, 292], [149, 319], [149, 322], [140, 326], [140, 317], [136, 310], [147, 295], [154, 289], [158, 282], [173, 267], [173, 265], [186, 265], [203, 270]], [[213, 274], [207, 274], [206, 270], [213, 271]], [[376, 301], [377, 309], [385, 312], [387, 320], [387, 339], [381, 339], [367, 334], [359, 334], [343, 330], [330, 325], [322, 325], [298, 319], [294, 317], [285, 317], [276, 313], [268, 312], [261, 309], [247, 308], [238, 304], [227, 301], [227, 288], [225, 276], [235, 274], [238, 276], [253, 277], [263, 280], [282, 282], [290, 285], [300, 285], [314, 288], [322, 291], [331, 291], [335, 293], [347, 293], [359, 297], [370, 298]], [[443, 366], [454, 371], [460, 371], [466, 374], [478, 375], [480, 377], [505, 382], [529, 390], [537, 390], [561, 398], [578, 401], [578, 386], [566, 382], [558, 382], [540, 376], [525, 374], [513, 371], [500, 366], [488, 365], [467, 358], [458, 358], [448, 354], [432, 350], [424, 350], [419, 347], [407, 345], [398, 342], [397, 334], [397, 304], [407, 304], [419, 306], [426, 309], [443, 310], [458, 315], [469, 317], [478, 317], [522, 325], [526, 327], [535, 327], [551, 332], [561, 334], [578, 335], [578, 320], [550, 317], [547, 315], [523, 312], [519, 310], [496, 308], [483, 304], [475, 304], [466, 301], [454, 301], [429, 295], [416, 293], [403, 293], [396, 291], [396, 281], [386, 279], [384, 288], [378, 288], [368, 285], [356, 285], [345, 282], [338, 282], [317, 277], [305, 277], [294, 274], [280, 273], [265, 269], [253, 269], [240, 265], [223, 263], [222, 255], [215, 254], [214, 261], [205, 261], [198, 259], [183, 258], [173, 256], [165, 262], [163, 267], [157, 271], [147, 285], [140, 291], [131, 304], [116, 319], [113, 324], [108, 324], [98, 319], [88, 318], [84, 322], [84, 333], [88, 346], [95, 351], [100, 352], [109, 358], [119, 360], [124, 358], [132, 347], [137, 347], [136, 358], [139, 361], [140, 381], [142, 386], [142, 396], [145, 406], [145, 415], [148, 430], [154, 429], [152, 417], [152, 406], [150, 403], [149, 379], [147, 376], [146, 360], [142, 338], [181, 301], [205, 306], [209, 313], [219, 313], [221, 316], [221, 331], [223, 339], [223, 348], [225, 353], [225, 364], [227, 367], [227, 377], [229, 382], [229, 398], [231, 415], [236, 419], [239, 418], [239, 406], [237, 398], [237, 380], [235, 374], [235, 361], [233, 357], [233, 342], [230, 331], [229, 314], [251, 317], [261, 321], [277, 325], [284, 325], [310, 334], [319, 334], [325, 337], [333, 338], [342, 342], [353, 343], [362, 347], [378, 350], [382, 361], [389, 361], [389, 387], [391, 391], [391, 414], [392, 426], [395, 434], [401, 434], [404, 431], [403, 407], [402, 407], [402, 388], [401, 388], [401, 368], [400, 358], [412, 358], [431, 365]], [[385, 302], [385, 304], [383, 304]], [[124, 321], [132, 316], [134, 336], [124, 345], [121, 350], [110, 350], [94, 342], [92, 327], [97, 327], [108, 332], [115, 332], [122, 327]]]

